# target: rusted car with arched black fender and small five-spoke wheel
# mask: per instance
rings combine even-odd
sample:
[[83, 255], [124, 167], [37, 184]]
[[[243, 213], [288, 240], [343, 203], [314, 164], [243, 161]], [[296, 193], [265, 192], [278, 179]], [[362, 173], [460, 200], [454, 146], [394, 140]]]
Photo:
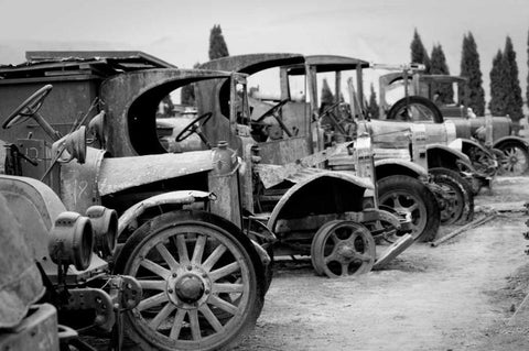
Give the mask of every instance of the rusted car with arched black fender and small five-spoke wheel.
[[[268, 59], [249, 55], [247, 59], [248, 66], [257, 68], [300, 62], [303, 57], [278, 54]], [[249, 73], [246, 69], [240, 72]], [[246, 86], [237, 90], [239, 113], [235, 117], [226, 114], [228, 88], [228, 84], [222, 80], [196, 85], [198, 113], [212, 111], [215, 114], [201, 127], [201, 138], [209, 144], [228, 139], [247, 161], [251, 173], [241, 179], [245, 209], [251, 217], [262, 218], [278, 237], [273, 254], [310, 255], [316, 272], [327, 276], [368, 271], [376, 255], [371, 234], [389, 237], [401, 227], [398, 216], [377, 208], [364, 210], [364, 193], [373, 189], [371, 179], [314, 167], [324, 162], [325, 155], [305, 153], [306, 147], [312, 147], [306, 135], [271, 143], [257, 142], [252, 135]], [[410, 235], [403, 235], [395, 246], [403, 250], [411, 244], [410, 239]], [[385, 251], [377, 257], [376, 265], [381, 266], [396, 252]]]

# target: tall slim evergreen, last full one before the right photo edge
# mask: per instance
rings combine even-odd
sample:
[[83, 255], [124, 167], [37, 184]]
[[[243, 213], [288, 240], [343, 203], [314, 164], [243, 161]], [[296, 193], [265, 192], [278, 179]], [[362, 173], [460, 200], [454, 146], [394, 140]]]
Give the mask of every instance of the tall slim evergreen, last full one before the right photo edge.
[[519, 121], [523, 114], [521, 108], [523, 101], [521, 100], [520, 80], [518, 79], [518, 65], [516, 63], [516, 52], [512, 47], [512, 42], [509, 36], [505, 41], [504, 50], [504, 68], [508, 72], [508, 80], [505, 88], [507, 89], [507, 99], [505, 101], [505, 112], [515, 122]]

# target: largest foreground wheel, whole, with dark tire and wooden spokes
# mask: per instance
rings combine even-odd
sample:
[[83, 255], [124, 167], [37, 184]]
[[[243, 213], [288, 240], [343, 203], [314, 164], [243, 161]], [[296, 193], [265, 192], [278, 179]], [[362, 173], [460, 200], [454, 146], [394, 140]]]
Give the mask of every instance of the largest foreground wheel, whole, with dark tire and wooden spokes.
[[140, 349], [226, 350], [255, 327], [263, 270], [248, 238], [223, 221], [168, 212], [123, 245], [115, 271], [143, 288], [140, 304], [123, 314], [127, 337]]

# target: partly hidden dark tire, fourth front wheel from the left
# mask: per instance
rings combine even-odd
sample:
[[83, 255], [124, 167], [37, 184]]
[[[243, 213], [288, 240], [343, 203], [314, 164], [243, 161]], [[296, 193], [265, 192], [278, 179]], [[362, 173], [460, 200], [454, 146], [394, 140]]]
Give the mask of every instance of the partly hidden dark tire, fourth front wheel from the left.
[[[455, 222], [467, 222], [474, 217], [474, 194], [471, 185], [462, 176], [447, 168], [431, 168], [428, 171], [433, 183], [442, 194], [438, 196], [438, 204], [441, 209], [441, 224], [447, 226]], [[452, 201], [447, 201], [443, 195], [453, 194]], [[449, 199], [450, 200], [450, 199]]]

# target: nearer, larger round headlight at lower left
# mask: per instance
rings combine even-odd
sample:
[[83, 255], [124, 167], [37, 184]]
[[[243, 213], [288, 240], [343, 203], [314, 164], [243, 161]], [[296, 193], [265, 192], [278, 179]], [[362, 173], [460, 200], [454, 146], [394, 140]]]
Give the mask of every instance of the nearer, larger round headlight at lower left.
[[48, 251], [55, 264], [73, 264], [76, 270], [88, 268], [94, 249], [94, 233], [87, 217], [62, 212], [50, 233]]

